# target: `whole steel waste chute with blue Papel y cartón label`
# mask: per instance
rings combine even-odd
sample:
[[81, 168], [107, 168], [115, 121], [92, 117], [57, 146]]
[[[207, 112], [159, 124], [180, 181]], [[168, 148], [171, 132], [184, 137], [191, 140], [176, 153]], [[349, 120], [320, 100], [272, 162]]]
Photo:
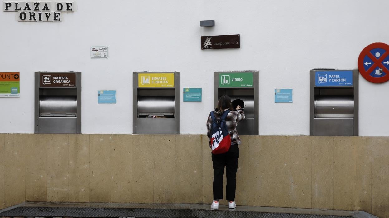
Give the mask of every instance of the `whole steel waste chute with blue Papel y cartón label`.
[[[319, 75], [328, 80], [319, 80]], [[310, 71], [309, 135], [358, 135], [358, 78], [356, 69]]]

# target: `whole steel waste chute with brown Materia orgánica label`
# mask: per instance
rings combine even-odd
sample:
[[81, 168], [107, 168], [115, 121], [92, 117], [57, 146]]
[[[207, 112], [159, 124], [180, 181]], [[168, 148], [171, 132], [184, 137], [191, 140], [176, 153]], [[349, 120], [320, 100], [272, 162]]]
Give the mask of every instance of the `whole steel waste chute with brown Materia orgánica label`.
[[34, 96], [34, 133], [81, 133], [81, 72], [35, 72]]

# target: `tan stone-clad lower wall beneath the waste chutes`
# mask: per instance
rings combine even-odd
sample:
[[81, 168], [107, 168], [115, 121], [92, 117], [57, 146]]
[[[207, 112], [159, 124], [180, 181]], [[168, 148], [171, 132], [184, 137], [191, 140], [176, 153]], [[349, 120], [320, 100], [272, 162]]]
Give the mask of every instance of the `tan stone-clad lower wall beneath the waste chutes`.
[[[389, 137], [241, 139], [238, 205], [389, 217]], [[212, 202], [205, 135], [0, 134], [0, 160], [0, 208], [25, 201]]]

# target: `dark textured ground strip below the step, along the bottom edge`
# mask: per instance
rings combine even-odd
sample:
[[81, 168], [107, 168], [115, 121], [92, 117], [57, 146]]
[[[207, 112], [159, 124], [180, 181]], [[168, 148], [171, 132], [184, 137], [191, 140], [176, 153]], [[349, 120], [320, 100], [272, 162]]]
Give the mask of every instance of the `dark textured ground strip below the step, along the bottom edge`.
[[136, 217], [136, 218], [350, 218], [350, 216], [266, 213], [206, 209], [16, 207], [0, 217]]

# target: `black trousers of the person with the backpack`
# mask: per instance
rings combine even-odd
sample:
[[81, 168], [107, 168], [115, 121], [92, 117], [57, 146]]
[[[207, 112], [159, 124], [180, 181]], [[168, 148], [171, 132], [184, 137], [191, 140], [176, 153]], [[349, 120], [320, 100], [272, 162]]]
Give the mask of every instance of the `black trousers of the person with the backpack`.
[[236, 175], [238, 170], [239, 147], [231, 145], [230, 150], [224, 154], [212, 154], [214, 168], [214, 200], [223, 198], [223, 175], [226, 166], [226, 200], [235, 200]]

